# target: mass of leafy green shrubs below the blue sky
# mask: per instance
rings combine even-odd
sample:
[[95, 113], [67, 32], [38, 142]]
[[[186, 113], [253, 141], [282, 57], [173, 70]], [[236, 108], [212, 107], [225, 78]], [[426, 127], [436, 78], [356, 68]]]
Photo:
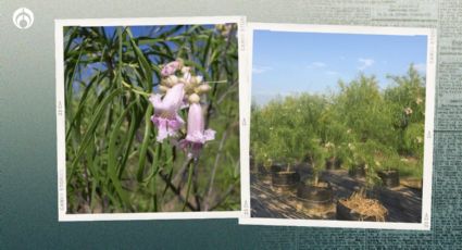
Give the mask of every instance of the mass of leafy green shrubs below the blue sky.
[[[300, 93], [252, 105], [251, 154], [270, 168], [275, 162], [324, 166], [364, 175], [370, 186], [399, 185], [399, 175], [423, 175], [425, 78], [413, 65], [389, 76], [339, 82], [330, 93]], [[285, 174], [284, 176], [291, 176]], [[296, 178], [296, 177], [285, 177]]]

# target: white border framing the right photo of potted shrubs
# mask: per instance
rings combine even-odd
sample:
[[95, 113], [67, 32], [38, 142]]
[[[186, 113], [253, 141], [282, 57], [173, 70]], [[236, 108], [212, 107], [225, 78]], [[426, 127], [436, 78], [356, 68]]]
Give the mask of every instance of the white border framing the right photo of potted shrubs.
[[[297, 218], [263, 218], [251, 217], [250, 212], [250, 104], [251, 87], [246, 88], [242, 95], [247, 105], [244, 110], [241, 130], [241, 208], [239, 224], [245, 225], [272, 225], [272, 226], [313, 226], [313, 227], [347, 227], [347, 228], [378, 228], [378, 229], [414, 229], [429, 230], [432, 217], [432, 175], [434, 157], [434, 118], [435, 118], [435, 83], [436, 83], [436, 50], [437, 34], [435, 28], [413, 27], [378, 27], [378, 26], [346, 26], [346, 25], [308, 25], [308, 24], [276, 24], [276, 23], [248, 23], [247, 25], [247, 83], [252, 84], [252, 52], [253, 32], [299, 32], [299, 33], [330, 33], [330, 34], [358, 34], [358, 35], [403, 35], [427, 36], [427, 63], [426, 63], [426, 101], [425, 101], [425, 139], [424, 139], [424, 173], [422, 190], [422, 222], [421, 223], [391, 223], [391, 222], [347, 222], [334, 220], [297, 220]], [[242, 97], [241, 96], [241, 97]], [[246, 122], [246, 120], [248, 122]]]

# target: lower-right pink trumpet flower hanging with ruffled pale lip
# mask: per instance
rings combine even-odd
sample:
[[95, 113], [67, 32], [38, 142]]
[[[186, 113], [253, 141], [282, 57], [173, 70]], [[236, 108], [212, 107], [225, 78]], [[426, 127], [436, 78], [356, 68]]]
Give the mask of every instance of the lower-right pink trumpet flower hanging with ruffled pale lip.
[[186, 138], [179, 142], [182, 148], [190, 150], [188, 157], [198, 158], [205, 141], [213, 139], [215, 139], [215, 130], [204, 130], [201, 105], [199, 103], [190, 104], [188, 113], [188, 132]]

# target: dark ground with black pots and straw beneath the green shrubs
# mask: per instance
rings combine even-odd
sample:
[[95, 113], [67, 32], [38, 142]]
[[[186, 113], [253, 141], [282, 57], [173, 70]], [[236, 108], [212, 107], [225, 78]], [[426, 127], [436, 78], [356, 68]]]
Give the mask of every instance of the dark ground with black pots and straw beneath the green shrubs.
[[[257, 209], [255, 216], [379, 222], [421, 220], [422, 189], [396, 188], [399, 184], [396, 175], [380, 176], [385, 186], [367, 188], [361, 174], [347, 174], [345, 170], [326, 164], [320, 182], [313, 185], [307, 182], [313, 174], [308, 165], [287, 171], [283, 164], [273, 164], [266, 171], [254, 163], [251, 164], [254, 202], [266, 208]], [[271, 214], [266, 214], [269, 209]]]

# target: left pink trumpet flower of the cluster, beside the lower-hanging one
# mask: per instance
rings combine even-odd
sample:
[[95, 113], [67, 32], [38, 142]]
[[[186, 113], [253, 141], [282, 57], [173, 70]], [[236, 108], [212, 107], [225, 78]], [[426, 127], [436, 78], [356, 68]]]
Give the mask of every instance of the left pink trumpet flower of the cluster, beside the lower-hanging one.
[[157, 139], [160, 142], [167, 136], [176, 135], [176, 132], [185, 123], [178, 115], [178, 110], [182, 108], [185, 97], [183, 86], [183, 84], [173, 86], [166, 91], [162, 100], [159, 93], [149, 98], [149, 101], [154, 107], [154, 115], [151, 116], [151, 121], [159, 129]]

